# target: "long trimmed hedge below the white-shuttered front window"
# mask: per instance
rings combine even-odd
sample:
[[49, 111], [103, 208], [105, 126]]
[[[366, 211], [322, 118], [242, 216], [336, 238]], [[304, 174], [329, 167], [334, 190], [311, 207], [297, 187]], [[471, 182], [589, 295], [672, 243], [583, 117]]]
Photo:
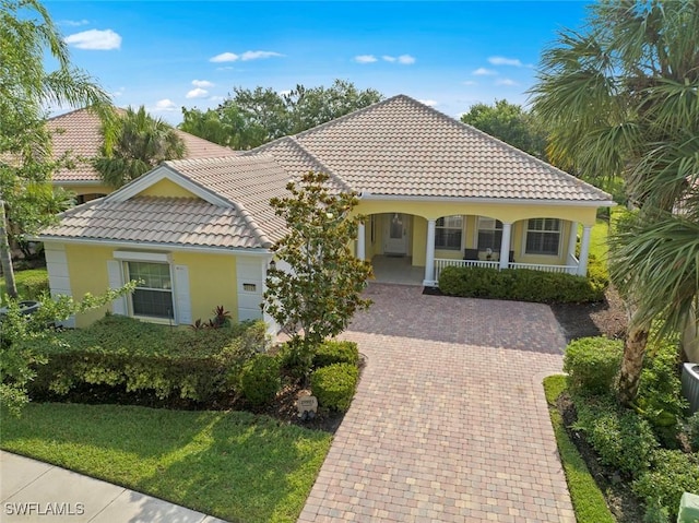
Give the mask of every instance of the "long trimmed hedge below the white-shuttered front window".
[[106, 316], [37, 346], [48, 362], [36, 367], [32, 388], [67, 394], [83, 383], [126, 385], [205, 401], [235, 390], [242, 364], [264, 348], [264, 335], [262, 322], [192, 331]]

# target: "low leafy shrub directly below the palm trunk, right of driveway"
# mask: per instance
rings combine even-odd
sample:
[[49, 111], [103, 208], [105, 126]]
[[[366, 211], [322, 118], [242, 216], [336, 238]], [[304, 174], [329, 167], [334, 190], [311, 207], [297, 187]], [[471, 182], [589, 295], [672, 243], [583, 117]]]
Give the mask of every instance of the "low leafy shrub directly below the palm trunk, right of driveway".
[[648, 471], [657, 441], [645, 419], [607, 399], [577, 396], [576, 407], [573, 428], [584, 433], [603, 464], [633, 478]]

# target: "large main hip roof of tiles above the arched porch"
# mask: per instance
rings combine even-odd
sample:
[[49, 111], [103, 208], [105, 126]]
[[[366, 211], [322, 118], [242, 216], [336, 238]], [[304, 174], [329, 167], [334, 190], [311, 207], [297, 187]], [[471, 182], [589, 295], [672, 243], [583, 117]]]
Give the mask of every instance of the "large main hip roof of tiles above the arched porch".
[[365, 195], [609, 202], [611, 195], [405, 95], [244, 154]]

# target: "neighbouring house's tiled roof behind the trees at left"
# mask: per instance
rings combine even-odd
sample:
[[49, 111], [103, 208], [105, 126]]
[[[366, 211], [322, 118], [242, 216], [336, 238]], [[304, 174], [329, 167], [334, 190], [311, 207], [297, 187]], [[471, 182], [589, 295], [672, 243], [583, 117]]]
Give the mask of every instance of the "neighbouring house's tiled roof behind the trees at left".
[[[102, 146], [99, 117], [88, 109], [78, 109], [49, 119], [48, 128], [52, 134], [54, 157], [58, 158], [70, 152], [71, 156], [76, 158], [74, 168], [60, 169], [54, 174], [54, 182], [58, 185], [98, 182], [99, 175], [92, 166], [91, 159], [99, 154]], [[211, 158], [239, 154], [179, 129], [176, 129], [176, 132], [185, 142], [186, 158]]]

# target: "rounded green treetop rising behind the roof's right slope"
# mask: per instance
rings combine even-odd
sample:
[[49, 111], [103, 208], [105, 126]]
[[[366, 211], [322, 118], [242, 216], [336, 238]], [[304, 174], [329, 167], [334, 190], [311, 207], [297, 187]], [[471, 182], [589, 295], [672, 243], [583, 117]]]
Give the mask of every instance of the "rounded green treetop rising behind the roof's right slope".
[[517, 104], [496, 99], [495, 105], [475, 104], [461, 121], [509, 143], [525, 153], [546, 159], [546, 132], [535, 116]]

